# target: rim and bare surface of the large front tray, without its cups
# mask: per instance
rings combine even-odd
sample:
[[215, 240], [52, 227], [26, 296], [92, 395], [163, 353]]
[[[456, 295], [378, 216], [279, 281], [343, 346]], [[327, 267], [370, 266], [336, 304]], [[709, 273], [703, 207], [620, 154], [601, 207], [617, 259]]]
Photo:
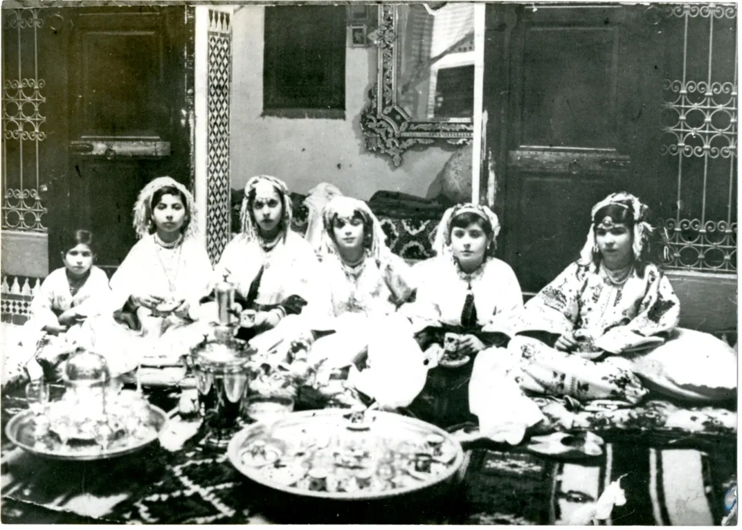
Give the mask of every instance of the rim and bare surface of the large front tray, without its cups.
[[[315, 497], [323, 500], [380, 500], [421, 491], [433, 486], [450, 482], [456, 471], [459, 471], [464, 462], [464, 451], [461, 444], [453, 439], [446, 431], [430, 425], [421, 420], [404, 417], [383, 411], [367, 411], [366, 422], [368, 428], [352, 429], [357, 435], [370, 437], [370, 439], [382, 437], [399, 440], [415, 438], [424, 440], [429, 434], [439, 434], [444, 438], [447, 447], [455, 451], [455, 456], [450, 460], [449, 466], [441, 474], [430, 477], [430, 480], [419, 480], [412, 486], [389, 489], [386, 491], [313, 491], [309, 489], [285, 486], [283, 483], [269, 480], [260, 472], [260, 468], [243, 463], [242, 454], [246, 448], [255, 440], [283, 439], [284, 436], [308, 436], [318, 433], [322, 437], [332, 437], [333, 433], [339, 433], [347, 429], [346, 419], [349, 411], [347, 409], [326, 409], [317, 411], [292, 412], [273, 423], [253, 423], [243, 428], [232, 438], [227, 448], [227, 456], [232, 465], [243, 475], [256, 483], [269, 488], [283, 491], [299, 497]], [[305, 432], [302, 432], [302, 429]], [[282, 436], [283, 434], [283, 436]]]

